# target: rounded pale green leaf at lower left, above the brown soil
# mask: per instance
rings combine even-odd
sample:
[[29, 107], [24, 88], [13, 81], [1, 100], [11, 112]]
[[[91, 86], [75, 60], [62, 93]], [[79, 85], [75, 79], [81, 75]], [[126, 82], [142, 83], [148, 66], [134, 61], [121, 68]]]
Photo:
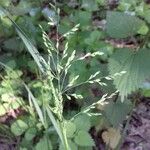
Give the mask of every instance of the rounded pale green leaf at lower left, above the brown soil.
[[16, 120], [11, 125], [11, 132], [14, 133], [16, 136], [23, 134], [28, 129], [28, 125], [23, 120]]

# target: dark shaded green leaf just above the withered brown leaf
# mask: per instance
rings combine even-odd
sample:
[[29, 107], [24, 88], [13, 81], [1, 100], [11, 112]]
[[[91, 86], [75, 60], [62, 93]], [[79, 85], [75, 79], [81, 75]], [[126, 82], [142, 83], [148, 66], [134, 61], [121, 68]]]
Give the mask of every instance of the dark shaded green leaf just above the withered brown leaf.
[[131, 103], [125, 101], [122, 103], [120, 100], [116, 103], [110, 102], [105, 106], [104, 115], [107, 117], [108, 121], [114, 127], [118, 127], [123, 120], [126, 119], [126, 115], [131, 110]]

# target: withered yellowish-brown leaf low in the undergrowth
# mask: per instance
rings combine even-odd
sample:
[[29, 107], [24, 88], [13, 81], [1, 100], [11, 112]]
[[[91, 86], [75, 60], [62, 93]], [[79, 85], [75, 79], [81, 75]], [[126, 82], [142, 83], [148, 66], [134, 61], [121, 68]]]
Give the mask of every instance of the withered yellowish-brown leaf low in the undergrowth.
[[102, 139], [106, 145], [110, 148], [115, 149], [121, 138], [120, 130], [115, 128], [109, 128], [107, 131], [102, 133]]

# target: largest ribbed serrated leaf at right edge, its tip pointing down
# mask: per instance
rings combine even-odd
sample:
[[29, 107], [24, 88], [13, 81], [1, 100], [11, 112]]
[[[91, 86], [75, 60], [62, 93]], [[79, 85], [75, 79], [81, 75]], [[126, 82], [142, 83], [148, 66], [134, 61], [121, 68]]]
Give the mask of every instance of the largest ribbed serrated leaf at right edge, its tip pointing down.
[[109, 59], [111, 75], [125, 71], [125, 74], [114, 78], [114, 84], [119, 90], [122, 100], [132, 91], [137, 90], [142, 82], [150, 77], [150, 50], [119, 49]]

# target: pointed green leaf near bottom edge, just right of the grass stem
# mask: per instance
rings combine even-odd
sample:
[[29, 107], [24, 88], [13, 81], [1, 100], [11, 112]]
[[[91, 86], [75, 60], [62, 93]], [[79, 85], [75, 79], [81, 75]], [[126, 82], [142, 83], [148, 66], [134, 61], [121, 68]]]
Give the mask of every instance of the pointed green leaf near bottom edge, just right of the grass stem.
[[74, 139], [75, 143], [79, 146], [94, 146], [94, 141], [90, 134], [86, 131], [80, 130]]

